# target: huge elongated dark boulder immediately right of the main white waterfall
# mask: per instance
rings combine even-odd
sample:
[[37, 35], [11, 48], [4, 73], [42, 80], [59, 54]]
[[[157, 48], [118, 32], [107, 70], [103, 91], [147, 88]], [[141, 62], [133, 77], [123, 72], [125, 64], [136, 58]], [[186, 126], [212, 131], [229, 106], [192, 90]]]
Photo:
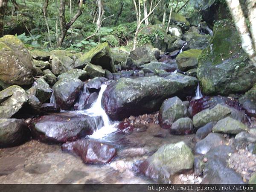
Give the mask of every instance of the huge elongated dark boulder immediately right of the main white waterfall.
[[162, 102], [169, 97], [193, 95], [197, 83], [196, 78], [182, 74], [166, 78], [121, 78], [108, 84], [102, 96], [102, 105], [111, 119], [150, 113], [159, 110]]

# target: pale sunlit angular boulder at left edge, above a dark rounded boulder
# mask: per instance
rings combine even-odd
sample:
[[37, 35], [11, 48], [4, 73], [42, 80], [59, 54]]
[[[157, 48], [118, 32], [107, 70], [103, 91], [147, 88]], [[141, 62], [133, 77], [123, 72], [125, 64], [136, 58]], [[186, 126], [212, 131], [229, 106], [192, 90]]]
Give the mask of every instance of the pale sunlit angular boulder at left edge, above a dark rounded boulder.
[[0, 117], [12, 117], [28, 100], [26, 91], [17, 85], [0, 91]]

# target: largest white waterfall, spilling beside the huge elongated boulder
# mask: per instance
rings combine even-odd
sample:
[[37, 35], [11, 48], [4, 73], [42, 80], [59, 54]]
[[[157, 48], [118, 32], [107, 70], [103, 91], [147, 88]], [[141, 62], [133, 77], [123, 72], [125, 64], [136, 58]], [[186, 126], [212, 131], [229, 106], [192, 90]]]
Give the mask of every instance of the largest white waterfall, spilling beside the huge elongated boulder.
[[99, 92], [99, 96], [96, 102], [94, 102], [89, 109], [81, 111], [81, 113], [85, 115], [102, 117], [104, 125], [97, 126], [97, 130], [92, 135], [90, 135], [91, 138], [100, 139], [100, 138], [103, 138], [105, 135], [116, 131], [115, 126], [117, 123], [116, 122], [111, 123], [107, 113], [104, 111], [104, 109], [101, 106], [102, 95], [106, 90], [107, 86], [108, 85], [106, 84], [102, 84]]

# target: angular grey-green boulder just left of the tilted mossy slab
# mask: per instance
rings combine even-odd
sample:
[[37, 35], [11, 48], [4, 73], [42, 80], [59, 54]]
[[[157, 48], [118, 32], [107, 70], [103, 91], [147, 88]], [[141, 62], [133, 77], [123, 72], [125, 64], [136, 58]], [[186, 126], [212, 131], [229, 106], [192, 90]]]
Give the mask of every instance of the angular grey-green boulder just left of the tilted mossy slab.
[[56, 76], [74, 69], [74, 60], [65, 55], [52, 56], [52, 73]]

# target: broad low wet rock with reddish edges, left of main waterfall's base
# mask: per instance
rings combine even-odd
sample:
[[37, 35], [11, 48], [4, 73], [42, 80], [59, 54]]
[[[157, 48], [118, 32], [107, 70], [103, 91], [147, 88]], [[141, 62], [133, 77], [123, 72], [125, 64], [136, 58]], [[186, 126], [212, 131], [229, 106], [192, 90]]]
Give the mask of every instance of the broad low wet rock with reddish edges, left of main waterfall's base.
[[32, 119], [29, 129], [33, 137], [42, 142], [65, 143], [93, 134], [100, 120], [76, 113], [59, 113]]

